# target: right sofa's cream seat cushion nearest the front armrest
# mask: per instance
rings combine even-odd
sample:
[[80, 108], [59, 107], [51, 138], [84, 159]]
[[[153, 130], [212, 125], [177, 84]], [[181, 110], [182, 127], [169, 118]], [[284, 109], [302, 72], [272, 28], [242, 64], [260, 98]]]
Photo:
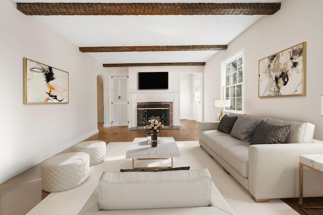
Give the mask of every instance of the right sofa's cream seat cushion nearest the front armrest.
[[239, 172], [243, 177], [248, 177], [249, 145], [239, 145], [224, 148], [223, 159]]

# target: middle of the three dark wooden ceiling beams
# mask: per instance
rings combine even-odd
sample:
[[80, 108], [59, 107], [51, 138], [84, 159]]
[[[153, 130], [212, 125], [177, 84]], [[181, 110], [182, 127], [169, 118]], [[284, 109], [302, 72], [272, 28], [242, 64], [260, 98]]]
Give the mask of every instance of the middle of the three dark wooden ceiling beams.
[[174, 45], [174, 46], [101, 46], [79, 47], [81, 52], [131, 52], [131, 51], [219, 51], [228, 45]]

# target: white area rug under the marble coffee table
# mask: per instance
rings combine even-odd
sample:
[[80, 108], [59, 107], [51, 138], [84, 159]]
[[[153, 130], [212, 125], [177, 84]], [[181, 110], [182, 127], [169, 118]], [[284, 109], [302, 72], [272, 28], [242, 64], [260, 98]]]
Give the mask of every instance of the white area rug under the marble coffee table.
[[[27, 214], [78, 214], [97, 186], [103, 171], [120, 172], [120, 169], [131, 168], [131, 160], [126, 159], [125, 155], [130, 144], [131, 142], [110, 142], [106, 146], [105, 161], [91, 167], [89, 179], [85, 183], [68, 191], [50, 193]], [[213, 183], [218, 187], [237, 215], [298, 214], [280, 199], [270, 199], [268, 202], [254, 202], [250, 193], [231, 175], [224, 172], [222, 166], [209, 157], [199, 146], [198, 141], [177, 141], [177, 145], [181, 151], [181, 157], [175, 158], [174, 167], [207, 168], [212, 176]], [[165, 164], [165, 162], [169, 163]], [[141, 160], [136, 165], [169, 166], [170, 162], [170, 160]]]

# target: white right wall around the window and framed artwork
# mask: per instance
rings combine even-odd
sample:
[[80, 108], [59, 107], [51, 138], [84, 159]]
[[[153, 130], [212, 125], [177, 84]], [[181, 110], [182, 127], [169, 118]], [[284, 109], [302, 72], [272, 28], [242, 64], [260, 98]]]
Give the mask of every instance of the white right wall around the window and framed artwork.
[[[264, 16], [206, 62], [204, 120], [216, 120], [212, 100], [221, 98], [221, 62], [244, 50], [244, 112], [315, 124], [314, 138], [323, 139], [320, 98], [323, 94], [323, 1], [283, 0], [281, 10]], [[306, 96], [258, 98], [258, 60], [306, 41]]]

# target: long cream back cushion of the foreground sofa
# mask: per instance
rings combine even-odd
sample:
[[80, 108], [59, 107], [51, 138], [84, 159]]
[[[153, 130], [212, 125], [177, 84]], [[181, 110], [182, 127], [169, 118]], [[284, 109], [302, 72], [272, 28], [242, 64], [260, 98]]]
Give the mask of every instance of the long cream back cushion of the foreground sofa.
[[206, 168], [166, 172], [103, 172], [100, 210], [209, 206], [211, 176]]

